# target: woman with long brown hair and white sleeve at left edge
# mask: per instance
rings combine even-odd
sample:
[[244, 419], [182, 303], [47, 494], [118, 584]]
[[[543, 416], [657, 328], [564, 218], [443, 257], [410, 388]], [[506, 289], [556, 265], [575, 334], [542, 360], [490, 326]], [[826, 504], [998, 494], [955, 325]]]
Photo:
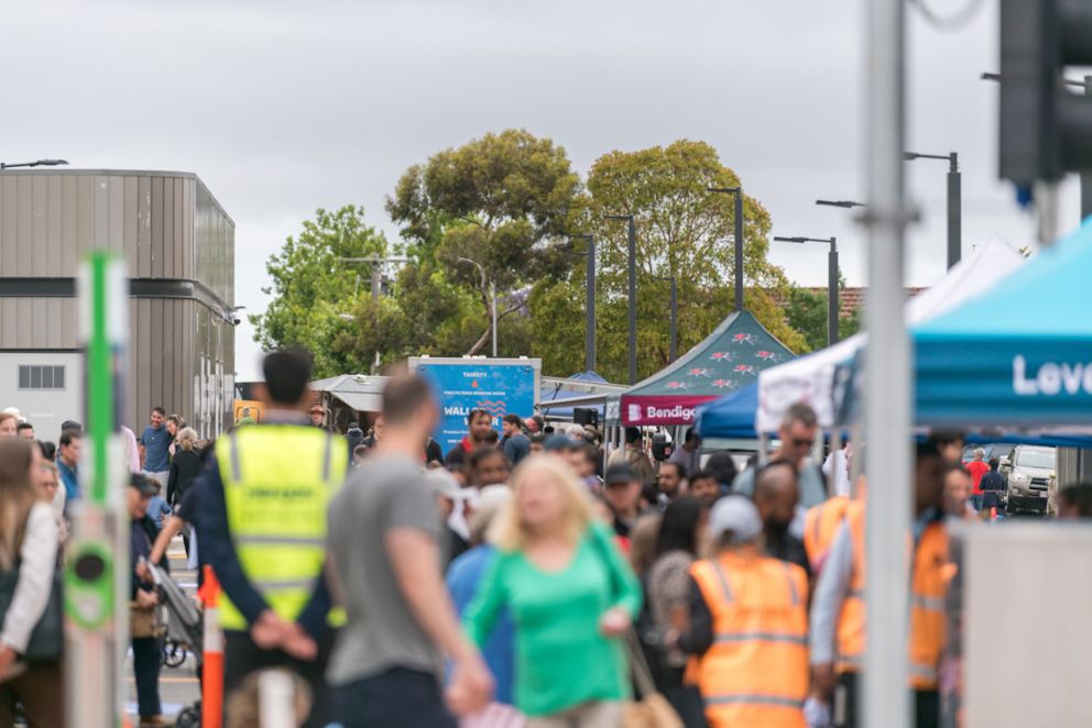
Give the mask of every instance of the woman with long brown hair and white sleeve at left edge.
[[40, 487], [42, 453], [0, 440], [0, 728], [21, 703], [31, 726], [64, 723], [57, 526]]

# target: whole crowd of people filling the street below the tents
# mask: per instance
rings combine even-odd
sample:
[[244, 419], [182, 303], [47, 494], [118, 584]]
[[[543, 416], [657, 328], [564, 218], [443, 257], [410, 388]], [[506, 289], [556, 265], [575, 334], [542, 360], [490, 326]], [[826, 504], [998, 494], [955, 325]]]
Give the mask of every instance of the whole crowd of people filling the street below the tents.
[[[341, 437], [308, 411], [305, 355], [269, 354], [264, 375], [261, 424], [204, 443], [155, 408], [127, 435], [134, 613], [155, 606], [150, 567], [181, 533], [222, 588], [227, 725], [253, 725], [270, 670], [293, 675], [315, 727], [621, 726], [648, 698], [634, 672], [677, 725], [860, 725], [866, 488], [844, 484], [861, 453], [820, 467], [806, 405], [761, 464], [703, 455], [694, 432], [653, 457], [636, 428], [604, 457], [594, 427], [510, 413], [498, 432], [484, 410], [445, 455], [423, 378], [392, 376], [370, 431]], [[0, 728], [17, 703], [31, 726], [64, 725], [57, 574], [83, 431], [65, 423], [55, 449], [34, 434], [0, 413]], [[961, 450], [917, 446], [918, 726], [938, 725], [953, 672], [948, 523], [995, 487], [995, 464]], [[1092, 486], [1063, 489], [1059, 510], [1088, 516]], [[161, 638], [133, 629], [140, 725], [164, 725]]]

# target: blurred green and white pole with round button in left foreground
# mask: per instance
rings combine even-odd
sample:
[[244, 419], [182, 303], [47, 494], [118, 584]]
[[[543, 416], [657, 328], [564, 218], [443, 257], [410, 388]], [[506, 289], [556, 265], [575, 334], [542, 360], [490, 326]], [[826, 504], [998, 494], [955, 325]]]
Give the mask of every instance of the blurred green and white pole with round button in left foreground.
[[119, 417], [127, 295], [121, 258], [92, 252], [78, 279], [87, 432], [65, 571], [67, 725], [87, 728], [119, 728], [124, 716], [130, 520]]

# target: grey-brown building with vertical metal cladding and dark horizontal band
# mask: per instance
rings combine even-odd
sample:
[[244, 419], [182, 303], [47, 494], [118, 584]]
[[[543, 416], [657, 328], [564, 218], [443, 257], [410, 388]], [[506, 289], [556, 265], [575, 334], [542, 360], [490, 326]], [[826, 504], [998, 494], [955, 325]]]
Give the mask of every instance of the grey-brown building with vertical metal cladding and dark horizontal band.
[[75, 279], [94, 247], [123, 255], [130, 282], [124, 423], [139, 433], [162, 405], [219, 434], [234, 385], [234, 222], [188, 173], [0, 173], [0, 408], [51, 440], [83, 421]]

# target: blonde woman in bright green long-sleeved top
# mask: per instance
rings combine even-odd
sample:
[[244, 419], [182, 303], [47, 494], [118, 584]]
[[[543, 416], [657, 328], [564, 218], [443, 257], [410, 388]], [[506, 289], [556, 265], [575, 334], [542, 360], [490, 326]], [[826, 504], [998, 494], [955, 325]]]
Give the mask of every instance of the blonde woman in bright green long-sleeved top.
[[498, 518], [496, 559], [463, 618], [479, 646], [515, 621], [515, 703], [527, 728], [616, 728], [630, 697], [624, 636], [641, 585], [565, 463], [528, 457]]

